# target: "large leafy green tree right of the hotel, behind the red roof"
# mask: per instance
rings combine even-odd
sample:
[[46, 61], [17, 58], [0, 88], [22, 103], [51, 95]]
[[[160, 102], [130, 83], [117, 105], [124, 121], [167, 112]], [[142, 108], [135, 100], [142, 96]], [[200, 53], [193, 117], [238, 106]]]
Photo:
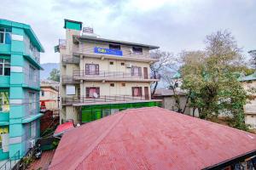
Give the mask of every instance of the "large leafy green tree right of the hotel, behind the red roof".
[[189, 91], [190, 107], [197, 108], [203, 119], [230, 115], [231, 126], [246, 129], [243, 105], [247, 95], [237, 80], [244, 66], [241, 48], [229, 31], [217, 31], [205, 43], [205, 51], [182, 54], [182, 88]]

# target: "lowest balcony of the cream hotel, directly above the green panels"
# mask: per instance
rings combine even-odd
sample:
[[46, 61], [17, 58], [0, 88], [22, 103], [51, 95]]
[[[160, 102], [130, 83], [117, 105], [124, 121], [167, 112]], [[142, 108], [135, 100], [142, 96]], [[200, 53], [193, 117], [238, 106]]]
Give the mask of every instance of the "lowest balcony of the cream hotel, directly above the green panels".
[[[146, 102], [149, 99], [148, 96], [131, 96], [131, 95], [101, 95], [98, 98], [89, 98], [88, 96], [80, 97], [64, 97], [61, 98], [62, 105], [101, 105], [101, 104], [119, 104], [119, 103], [133, 103], [133, 102]], [[157, 99], [160, 101], [159, 99]]]

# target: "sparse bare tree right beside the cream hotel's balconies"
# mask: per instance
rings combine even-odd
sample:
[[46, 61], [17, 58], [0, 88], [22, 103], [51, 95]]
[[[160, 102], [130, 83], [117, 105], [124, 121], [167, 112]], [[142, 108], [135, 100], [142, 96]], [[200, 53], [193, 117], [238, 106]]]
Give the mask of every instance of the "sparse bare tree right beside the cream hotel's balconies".
[[[154, 52], [151, 52], [150, 55], [152, 58], [158, 59], [157, 62], [154, 62], [150, 65], [151, 77], [153, 77], [154, 79], [160, 79], [162, 71], [164, 71], [166, 67], [171, 67], [173, 54], [160, 50], [155, 50]], [[151, 84], [151, 96], [154, 95], [157, 86], [158, 82], [154, 82], [153, 84]]]

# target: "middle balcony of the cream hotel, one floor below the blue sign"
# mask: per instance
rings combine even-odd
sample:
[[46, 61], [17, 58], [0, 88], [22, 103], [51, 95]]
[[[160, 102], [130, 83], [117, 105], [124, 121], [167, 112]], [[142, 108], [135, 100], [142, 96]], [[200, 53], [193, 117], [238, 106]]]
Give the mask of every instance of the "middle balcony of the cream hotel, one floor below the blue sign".
[[94, 71], [86, 72], [83, 70], [73, 71], [74, 80], [102, 81], [102, 82], [157, 82], [148, 75], [131, 75], [130, 72], [121, 71]]

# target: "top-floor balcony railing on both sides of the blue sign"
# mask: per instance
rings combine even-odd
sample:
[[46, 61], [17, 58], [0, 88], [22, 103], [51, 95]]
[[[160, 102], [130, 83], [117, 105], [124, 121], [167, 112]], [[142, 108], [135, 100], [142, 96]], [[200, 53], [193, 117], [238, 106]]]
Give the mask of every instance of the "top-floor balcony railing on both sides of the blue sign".
[[[84, 44], [79, 45], [73, 45], [73, 53], [79, 53], [79, 54], [96, 54], [94, 52], [95, 47], [87, 47]], [[134, 53], [129, 48], [121, 49], [124, 57], [131, 57], [136, 59], [156, 59], [155, 57], [150, 56], [149, 53], [143, 52], [143, 53]], [[99, 54], [96, 54], [99, 55]], [[109, 55], [109, 54], [100, 54], [100, 55]], [[114, 56], [114, 55], [112, 55]], [[119, 56], [119, 55], [117, 55]]]

